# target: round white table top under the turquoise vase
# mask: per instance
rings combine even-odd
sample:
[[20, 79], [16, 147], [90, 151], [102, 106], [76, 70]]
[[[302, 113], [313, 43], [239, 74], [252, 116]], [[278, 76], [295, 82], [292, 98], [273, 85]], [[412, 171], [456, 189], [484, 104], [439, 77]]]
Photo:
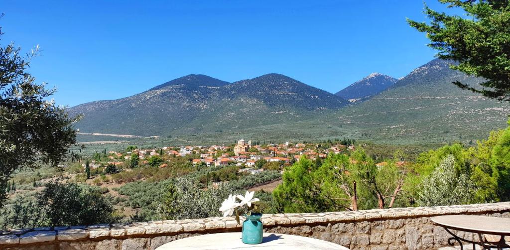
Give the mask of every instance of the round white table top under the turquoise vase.
[[349, 250], [349, 248], [314, 238], [288, 235], [264, 233], [264, 239], [261, 244], [250, 245], [241, 242], [241, 233], [221, 233], [204, 234], [168, 242], [157, 250], [169, 249], [311, 249], [311, 250]]

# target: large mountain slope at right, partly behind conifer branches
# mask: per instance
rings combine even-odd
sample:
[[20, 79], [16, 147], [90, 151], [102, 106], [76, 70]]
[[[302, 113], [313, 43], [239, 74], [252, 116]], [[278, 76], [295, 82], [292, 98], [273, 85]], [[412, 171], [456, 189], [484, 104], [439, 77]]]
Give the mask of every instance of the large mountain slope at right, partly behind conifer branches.
[[487, 137], [506, 127], [510, 106], [452, 84], [477, 85], [483, 80], [449, 68], [435, 59], [409, 73], [391, 88], [359, 105], [324, 119], [331, 127], [352, 127], [360, 139], [401, 142], [450, 142]]

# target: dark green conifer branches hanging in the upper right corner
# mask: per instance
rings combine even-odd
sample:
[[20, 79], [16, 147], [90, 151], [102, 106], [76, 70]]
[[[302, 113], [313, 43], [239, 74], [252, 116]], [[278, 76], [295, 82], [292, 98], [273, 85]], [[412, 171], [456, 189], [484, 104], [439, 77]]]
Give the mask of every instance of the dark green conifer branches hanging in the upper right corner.
[[451, 68], [487, 79], [478, 89], [461, 82], [455, 85], [490, 98], [510, 101], [510, 2], [508, 0], [440, 0], [460, 7], [467, 18], [434, 11], [425, 6], [430, 24], [407, 20], [430, 39], [428, 46], [442, 59], [460, 62]]

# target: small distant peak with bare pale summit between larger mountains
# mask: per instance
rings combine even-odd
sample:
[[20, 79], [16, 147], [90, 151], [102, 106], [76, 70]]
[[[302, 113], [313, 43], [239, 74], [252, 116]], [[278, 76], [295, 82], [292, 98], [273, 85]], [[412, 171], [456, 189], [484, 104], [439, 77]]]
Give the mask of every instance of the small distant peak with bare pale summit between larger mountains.
[[398, 79], [386, 76], [385, 74], [371, 73], [362, 80], [347, 86], [335, 94], [355, 103], [390, 88], [396, 82], [398, 82]]

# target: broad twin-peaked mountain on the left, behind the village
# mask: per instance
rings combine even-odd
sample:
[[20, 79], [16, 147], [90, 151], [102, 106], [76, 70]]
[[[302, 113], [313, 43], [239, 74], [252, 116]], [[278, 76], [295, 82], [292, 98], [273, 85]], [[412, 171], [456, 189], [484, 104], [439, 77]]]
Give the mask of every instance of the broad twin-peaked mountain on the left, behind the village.
[[166, 136], [273, 124], [348, 102], [281, 74], [227, 82], [190, 75], [140, 94], [78, 105], [83, 133]]

